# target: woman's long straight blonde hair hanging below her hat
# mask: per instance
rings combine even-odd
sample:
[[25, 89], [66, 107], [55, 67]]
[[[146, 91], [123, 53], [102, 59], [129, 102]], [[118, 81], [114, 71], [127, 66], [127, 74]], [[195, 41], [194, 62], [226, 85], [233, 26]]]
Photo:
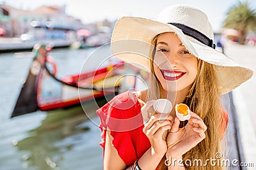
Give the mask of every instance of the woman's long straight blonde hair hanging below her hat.
[[[151, 59], [150, 59], [150, 69], [151, 75], [149, 78], [150, 90], [148, 90], [148, 98], [156, 99], [158, 96], [161, 96], [159, 91], [159, 86], [161, 83], [156, 78], [154, 73], [153, 61], [154, 54], [156, 52], [156, 43], [158, 34], [152, 40], [152, 49], [151, 49]], [[214, 66], [204, 60], [198, 60], [198, 74], [196, 79], [191, 85], [191, 88], [186, 96], [184, 101], [187, 104], [191, 111], [195, 112], [204, 120], [205, 125], [207, 125], [207, 131], [205, 131], [205, 139], [198, 143], [194, 148], [191, 148], [187, 153], [182, 155], [183, 162], [188, 164], [186, 160], [191, 160], [192, 164], [186, 166], [186, 169], [223, 169], [223, 167], [212, 166], [209, 162], [205, 166], [193, 165], [193, 160], [202, 160], [202, 165], [207, 162], [207, 159], [216, 159], [216, 153], [221, 152], [221, 120], [223, 117], [223, 110], [221, 109], [221, 98], [220, 91], [218, 89], [218, 81], [216, 78], [216, 72]], [[164, 165], [164, 160], [166, 159], [165, 155], [160, 162], [159, 169], [167, 169]], [[221, 162], [221, 160], [219, 160]]]

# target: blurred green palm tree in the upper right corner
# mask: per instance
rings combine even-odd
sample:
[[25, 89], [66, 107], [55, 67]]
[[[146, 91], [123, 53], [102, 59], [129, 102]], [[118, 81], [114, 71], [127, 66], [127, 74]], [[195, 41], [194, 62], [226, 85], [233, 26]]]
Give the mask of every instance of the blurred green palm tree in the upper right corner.
[[247, 1], [239, 1], [228, 10], [223, 27], [239, 31], [238, 42], [244, 45], [247, 32], [256, 29], [256, 9]]

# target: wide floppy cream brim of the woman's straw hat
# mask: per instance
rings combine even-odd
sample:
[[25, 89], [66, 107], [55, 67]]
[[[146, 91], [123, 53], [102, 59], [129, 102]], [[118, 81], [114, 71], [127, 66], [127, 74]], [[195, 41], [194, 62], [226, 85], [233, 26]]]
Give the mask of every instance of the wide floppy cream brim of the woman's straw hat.
[[[150, 71], [148, 59], [151, 41], [157, 34], [163, 32], [174, 32], [191, 54], [214, 64], [221, 94], [230, 92], [253, 75], [252, 69], [240, 66], [223, 53], [186, 36], [179, 28], [146, 18], [120, 18], [112, 34], [111, 52], [118, 59]], [[134, 40], [137, 43], [134, 43]]]

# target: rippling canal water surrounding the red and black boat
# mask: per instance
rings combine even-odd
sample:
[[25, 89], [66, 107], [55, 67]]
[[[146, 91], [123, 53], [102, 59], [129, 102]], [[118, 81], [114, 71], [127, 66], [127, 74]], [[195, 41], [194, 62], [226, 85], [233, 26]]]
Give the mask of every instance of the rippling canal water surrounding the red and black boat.
[[[79, 73], [93, 50], [52, 50], [58, 76]], [[102, 169], [99, 106], [86, 104], [90, 120], [81, 106], [10, 118], [32, 59], [29, 52], [0, 53], [0, 170]]]

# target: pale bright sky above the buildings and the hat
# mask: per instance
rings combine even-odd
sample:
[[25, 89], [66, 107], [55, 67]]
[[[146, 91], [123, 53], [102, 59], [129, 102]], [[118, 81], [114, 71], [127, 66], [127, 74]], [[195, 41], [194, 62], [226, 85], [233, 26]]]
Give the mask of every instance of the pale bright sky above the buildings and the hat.
[[[225, 13], [238, 0], [0, 0], [0, 3], [3, 2], [23, 10], [33, 10], [40, 5], [66, 4], [67, 14], [81, 19], [84, 24], [105, 18], [115, 20], [122, 16], [156, 19], [159, 12], [166, 6], [188, 4], [207, 13], [214, 31], [218, 31], [225, 19]], [[248, 2], [256, 8], [255, 0], [248, 0]]]

